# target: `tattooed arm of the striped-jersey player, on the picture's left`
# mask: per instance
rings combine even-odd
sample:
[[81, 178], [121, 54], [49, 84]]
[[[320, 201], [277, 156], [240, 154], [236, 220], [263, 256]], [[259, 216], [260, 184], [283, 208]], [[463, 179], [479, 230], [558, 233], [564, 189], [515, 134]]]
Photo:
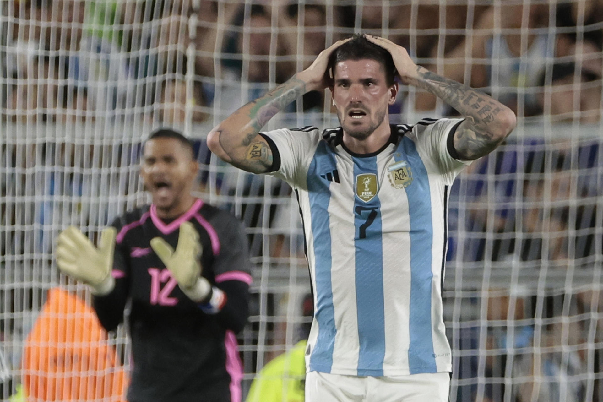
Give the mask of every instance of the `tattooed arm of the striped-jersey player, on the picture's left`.
[[249, 102], [218, 124], [207, 134], [207, 146], [222, 160], [252, 173], [265, 173], [271, 168], [270, 145], [259, 131], [289, 103], [311, 90], [327, 86], [329, 56], [347, 40], [339, 40], [324, 49], [314, 63], [266, 95]]

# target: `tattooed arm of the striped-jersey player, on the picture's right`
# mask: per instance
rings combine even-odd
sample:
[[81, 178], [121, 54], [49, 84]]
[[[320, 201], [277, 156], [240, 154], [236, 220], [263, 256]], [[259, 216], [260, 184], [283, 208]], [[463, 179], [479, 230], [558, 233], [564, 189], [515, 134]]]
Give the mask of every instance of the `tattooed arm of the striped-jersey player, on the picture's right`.
[[473, 160], [488, 154], [515, 128], [515, 114], [499, 101], [417, 66], [405, 48], [390, 40], [367, 38], [391, 53], [400, 78], [406, 84], [433, 93], [465, 117], [454, 134], [454, 148], [461, 159]]

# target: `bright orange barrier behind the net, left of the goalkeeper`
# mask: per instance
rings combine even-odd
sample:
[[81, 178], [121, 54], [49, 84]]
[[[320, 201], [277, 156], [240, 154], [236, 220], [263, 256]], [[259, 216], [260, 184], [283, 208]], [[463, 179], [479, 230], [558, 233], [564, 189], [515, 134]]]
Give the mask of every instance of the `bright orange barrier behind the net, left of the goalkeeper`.
[[33, 401], [125, 401], [127, 375], [92, 307], [53, 288], [25, 341], [24, 388]]

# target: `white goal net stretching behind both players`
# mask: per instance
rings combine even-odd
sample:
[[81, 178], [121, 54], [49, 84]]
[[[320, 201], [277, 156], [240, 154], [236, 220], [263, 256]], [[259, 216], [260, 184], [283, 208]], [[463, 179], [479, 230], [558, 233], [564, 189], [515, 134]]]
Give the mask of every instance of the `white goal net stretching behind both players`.
[[[148, 202], [137, 164], [159, 127], [194, 139], [195, 192], [247, 227], [243, 395], [306, 336], [310, 286], [291, 189], [219, 161], [204, 139], [327, 45], [362, 32], [518, 116], [450, 197], [450, 400], [603, 401], [602, 28], [595, 0], [0, 1], [0, 398], [23, 397], [30, 382], [30, 401], [121, 400], [127, 328], [98, 339], [56, 330], [88, 322], [90, 295], [58, 274], [54, 239], [68, 225], [94, 238]], [[390, 108], [394, 123], [456, 115], [404, 85]], [[328, 91], [265, 129], [305, 125], [338, 125]], [[68, 294], [54, 305], [57, 288]], [[76, 365], [98, 348], [106, 362]], [[80, 371], [96, 388], [73, 391]]]

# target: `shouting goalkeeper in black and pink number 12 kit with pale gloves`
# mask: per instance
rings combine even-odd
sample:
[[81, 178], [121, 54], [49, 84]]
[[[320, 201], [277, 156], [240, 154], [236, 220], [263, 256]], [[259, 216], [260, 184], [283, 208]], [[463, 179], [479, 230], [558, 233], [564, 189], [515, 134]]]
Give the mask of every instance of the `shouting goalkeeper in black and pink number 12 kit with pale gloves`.
[[140, 166], [153, 203], [116, 218], [98, 248], [75, 227], [58, 236], [58, 267], [91, 287], [107, 331], [131, 302], [130, 402], [241, 401], [247, 242], [234, 216], [191, 195], [197, 171], [186, 137], [155, 131]]

